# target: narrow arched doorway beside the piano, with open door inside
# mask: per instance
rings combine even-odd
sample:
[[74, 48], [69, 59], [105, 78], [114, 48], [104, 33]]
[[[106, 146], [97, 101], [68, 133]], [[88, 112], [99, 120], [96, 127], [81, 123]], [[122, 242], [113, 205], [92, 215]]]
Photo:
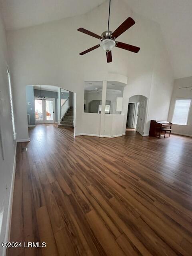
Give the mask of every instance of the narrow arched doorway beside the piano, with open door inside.
[[146, 104], [147, 98], [143, 95], [134, 95], [129, 98], [126, 134], [136, 130], [138, 133], [143, 135]]

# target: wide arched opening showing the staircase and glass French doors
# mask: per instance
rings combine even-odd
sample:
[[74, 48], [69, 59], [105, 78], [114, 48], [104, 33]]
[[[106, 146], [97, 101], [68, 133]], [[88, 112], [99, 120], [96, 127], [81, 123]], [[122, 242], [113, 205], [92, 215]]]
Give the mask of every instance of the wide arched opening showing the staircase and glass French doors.
[[58, 86], [26, 86], [28, 127], [57, 123], [60, 128], [75, 128], [75, 103], [74, 93]]

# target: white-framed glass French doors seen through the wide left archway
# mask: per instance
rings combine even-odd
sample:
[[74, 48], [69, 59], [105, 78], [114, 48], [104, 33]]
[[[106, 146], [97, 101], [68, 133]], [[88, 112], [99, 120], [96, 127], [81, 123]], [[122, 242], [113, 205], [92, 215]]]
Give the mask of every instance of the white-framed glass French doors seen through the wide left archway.
[[46, 124], [55, 122], [55, 99], [35, 98], [35, 123]]

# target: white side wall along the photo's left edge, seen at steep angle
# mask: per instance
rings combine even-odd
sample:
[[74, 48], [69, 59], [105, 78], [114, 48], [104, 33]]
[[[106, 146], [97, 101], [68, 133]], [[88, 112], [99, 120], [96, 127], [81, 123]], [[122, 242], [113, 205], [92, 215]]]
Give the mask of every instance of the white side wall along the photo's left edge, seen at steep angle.
[[[4, 160], [0, 146], [0, 213], [3, 211], [2, 226], [0, 223], [0, 244], [8, 239], [9, 199], [11, 194], [12, 174], [16, 142], [13, 140], [12, 121], [10, 115], [10, 98], [7, 75], [7, 48], [4, 24], [0, 15], [0, 132], [4, 148]], [[0, 246], [0, 255], [5, 250]]]

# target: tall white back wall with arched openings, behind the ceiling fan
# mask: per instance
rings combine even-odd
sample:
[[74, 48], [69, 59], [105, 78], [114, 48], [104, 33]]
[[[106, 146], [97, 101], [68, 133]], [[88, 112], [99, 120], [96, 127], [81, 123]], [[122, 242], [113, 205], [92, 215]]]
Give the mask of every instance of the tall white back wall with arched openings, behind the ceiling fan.
[[[150, 118], [166, 119], [172, 91], [172, 71], [158, 24], [133, 13], [124, 1], [113, 1], [110, 30], [115, 30], [131, 16], [136, 24], [118, 39], [139, 46], [140, 52], [134, 54], [114, 48], [111, 63], [106, 63], [106, 54], [101, 48], [84, 56], [79, 55], [79, 52], [99, 41], [78, 32], [77, 28], [84, 27], [101, 34], [107, 28], [107, 14], [108, 3], [105, 2], [82, 16], [7, 33], [14, 90], [17, 93], [16, 127], [19, 139], [28, 139], [24, 102], [26, 85], [50, 84], [76, 92], [76, 133], [84, 133], [89, 123], [89, 120], [82, 122], [88, 118], [84, 116], [84, 81], [102, 81], [108, 73], [128, 76], [122, 111], [125, 116], [131, 96], [141, 94], [149, 98], [152, 95], [147, 106], [150, 111], [146, 117], [145, 133], [149, 130]], [[99, 127], [98, 122], [95, 126]], [[91, 129], [90, 126], [89, 133], [92, 134]]]

